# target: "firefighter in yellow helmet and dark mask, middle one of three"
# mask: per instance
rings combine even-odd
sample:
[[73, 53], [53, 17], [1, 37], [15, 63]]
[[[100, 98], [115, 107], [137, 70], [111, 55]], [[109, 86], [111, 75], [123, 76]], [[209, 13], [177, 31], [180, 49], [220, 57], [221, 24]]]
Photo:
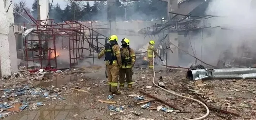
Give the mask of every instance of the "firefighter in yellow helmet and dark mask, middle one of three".
[[120, 89], [123, 89], [125, 86], [125, 75], [126, 75], [126, 82], [128, 83], [128, 88], [131, 90], [131, 86], [133, 84], [132, 81], [132, 67], [135, 63], [136, 57], [135, 52], [132, 48], [130, 48], [130, 40], [127, 38], [123, 38], [122, 41], [122, 48], [121, 51], [121, 58], [122, 58], [122, 66], [119, 69], [119, 83]]

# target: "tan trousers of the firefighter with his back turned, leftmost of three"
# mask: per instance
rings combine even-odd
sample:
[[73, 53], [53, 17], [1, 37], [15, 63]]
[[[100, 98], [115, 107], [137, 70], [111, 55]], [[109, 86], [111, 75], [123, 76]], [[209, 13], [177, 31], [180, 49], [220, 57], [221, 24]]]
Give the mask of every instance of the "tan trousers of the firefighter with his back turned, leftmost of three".
[[118, 91], [118, 74], [119, 68], [116, 65], [107, 65], [107, 84], [109, 85], [109, 91], [116, 92]]

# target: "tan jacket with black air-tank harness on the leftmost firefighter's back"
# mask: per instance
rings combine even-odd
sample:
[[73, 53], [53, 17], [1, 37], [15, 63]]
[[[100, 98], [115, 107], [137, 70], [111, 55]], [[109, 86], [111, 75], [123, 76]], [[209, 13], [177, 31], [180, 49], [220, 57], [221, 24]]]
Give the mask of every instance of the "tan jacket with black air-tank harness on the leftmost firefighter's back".
[[105, 48], [100, 51], [98, 58], [102, 57], [103, 55], [105, 55], [105, 60], [106, 61], [106, 65], [121, 65], [122, 61], [121, 61], [121, 55], [120, 55], [120, 47], [118, 46], [118, 44], [109, 44], [107, 43], [105, 45]]

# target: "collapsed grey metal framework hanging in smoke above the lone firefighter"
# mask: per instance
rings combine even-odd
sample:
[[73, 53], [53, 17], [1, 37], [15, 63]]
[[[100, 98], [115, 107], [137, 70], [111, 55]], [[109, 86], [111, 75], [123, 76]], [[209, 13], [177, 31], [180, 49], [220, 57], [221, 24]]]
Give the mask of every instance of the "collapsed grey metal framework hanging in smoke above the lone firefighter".
[[[163, 51], [163, 54], [161, 55], [163, 55], [163, 58], [166, 58], [166, 63], [168, 63], [168, 60], [167, 60], [168, 51], [170, 50], [171, 52], [173, 52], [170, 48], [170, 45], [173, 45], [173, 44], [169, 40], [166, 40], [169, 33], [183, 33], [184, 36], [187, 37], [190, 31], [220, 27], [220, 26], [214, 26], [214, 27], [207, 26], [206, 24], [204, 24], [203, 26], [199, 26], [199, 22], [204, 22], [206, 19], [210, 19], [213, 17], [220, 17], [220, 16], [216, 16], [216, 15], [195, 16], [190, 14], [179, 14], [175, 12], [169, 12], [168, 14], [172, 14], [173, 17], [171, 17], [171, 19], [168, 20], [167, 22], [164, 23], [162, 20], [161, 24], [155, 24], [153, 26], [149, 26], [140, 30], [142, 33], [145, 34], [145, 38], [146, 36], [148, 36], [150, 39], [155, 39], [156, 41], [158, 41], [157, 42], [159, 43], [158, 45], [163, 46], [163, 48], [161, 48], [161, 51]], [[180, 18], [178, 18], [177, 16], [179, 16]], [[156, 36], [158, 36], [158, 39], [156, 39]], [[175, 46], [175, 47], [178, 48], [178, 46]], [[180, 48], [178, 49], [181, 50]], [[196, 57], [195, 59], [199, 60]], [[209, 66], [212, 66], [212, 65], [209, 65]]]

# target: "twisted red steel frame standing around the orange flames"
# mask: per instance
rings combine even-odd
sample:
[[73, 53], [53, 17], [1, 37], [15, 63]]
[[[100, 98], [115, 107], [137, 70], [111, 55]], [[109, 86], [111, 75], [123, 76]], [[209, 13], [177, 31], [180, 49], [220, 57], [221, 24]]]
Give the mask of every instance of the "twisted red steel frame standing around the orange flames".
[[[26, 12], [26, 11], [25, 11]], [[27, 61], [27, 68], [28, 68], [28, 61], [40, 61], [41, 69], [50, 68], [51, 67], [51, 60], [55, 62], [55, 68], [57, 68], [57, 57], [56, 57], [56, 37], [68, 37], [69, 38], [69, 66], [78, 65], [79, 61], [84, 58], [93, 58], [94, 63], [94, 54], [99, 53], [104, 45], [99, 42], [100, 39], [103, 39], [105, 43], [107, 42], [108, 37], [104, 36], [103, 34], [98, 33], [93, 28], [86, 27], [85, 25], [79, 23], [78, 21], [72, 21], [71, 23], [64, 23], [59, 24], [53, 21], [53, 19], [47, 20], [36, 20], [31, 15], [26, 13], [30, 19], [35, 23], [32, 26], [36, 27], [33, 33], [38, 35], [38, 40], [27, 40], [24, 39], [25, 42], [25, 54], [26, 54], [26, 61]], [[107, 29], [107, 28], [96, 28], [96, 29]], [[89, 35], [86, 35], [84, 30], [89, 30]], [[96, 34], [95, 34], [96, 33]], [[95, 37], [93, 37], [95, 35]], [[46, 39], [43, 39], [45, 36]], [[100, 36], [100, 37], [99, 37]], [[51, 39], [48, 39], [51, 38]], [[39, 48], [37, 50], [28, 50], [29, 42], [38, 41]], [[42, 48], [42, 42], [50, 42], [52, 41], [53, 48]], [[96, 41], [96, 42], [93, 42]], [[89, 47], [85, 48], [84, 43], [88, 43]], [[83, 55], [83, 51], [88, 50], [90, 51], [88, 56]], [[39, 51], [39, 54], [42, 55], [43, 50], [47, 50], [47, 58], [39, 57], [35, 59], [34, 57], [28, 57], [28, 51], [31, 51], [32, 56], [34, 51]], [[54, 58], [51, 58], [51, 54], [54, 54]], [[73, 55], [71, 55], [71, 53]], [[43, 61], [48, 62], [46, 67], [43, 67]]]

